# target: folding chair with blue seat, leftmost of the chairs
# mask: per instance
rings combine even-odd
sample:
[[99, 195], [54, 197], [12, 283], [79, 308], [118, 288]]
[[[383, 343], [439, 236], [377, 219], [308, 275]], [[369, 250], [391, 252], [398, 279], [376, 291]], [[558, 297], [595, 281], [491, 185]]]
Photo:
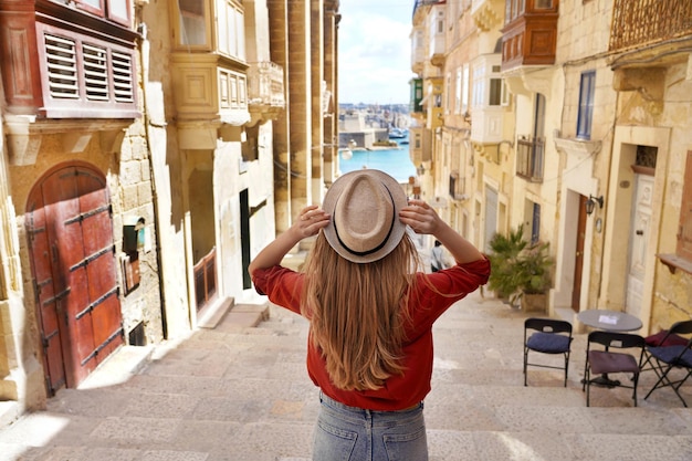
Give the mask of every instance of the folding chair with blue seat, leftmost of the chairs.
[[[531, 335], [528, 334], [531, 331]], [[524, 386], [526, 386], [526, 369], [528, 366], [565, 370], [565, 387], [567, 387], [567, 369], [569, 367], [569, 352], [572, 345], [572, 324], [555, 318], [531, 317], [524, 321]], [[564, 366], [537, 364], [528, 362], [528, 353], [562, 354]]]

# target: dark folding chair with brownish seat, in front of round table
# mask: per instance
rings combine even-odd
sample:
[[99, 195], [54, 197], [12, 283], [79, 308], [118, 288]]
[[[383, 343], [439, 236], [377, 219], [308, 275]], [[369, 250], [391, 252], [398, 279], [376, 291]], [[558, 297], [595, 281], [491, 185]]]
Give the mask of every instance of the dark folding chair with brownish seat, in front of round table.
[[[593, 345], [599, 344], [604, 349], [594, 349]], [[639, 359], [632, 354], [611, 352], [611, 348], [618, 349], [639, 349]], [[639, 373], [644, 357], [646, 342], [644, 338], [629, 333], [601, 332], [596, 331], [589, 333], [588, 343], [586, 345], [586, 365], [584, 367], [584, 380], [581, 390], [586, 389], [586, 406], [590, 406], [591, 385], [605, 385], [608, 388], [625, 387], [632, 389], [632, 400], [637, 407], [637, 385], [639, 383]], [[604, 376], [616, 373], [631, 373], [631, 385], [623, 381], [607, 379]], [[591, 374], [599, 375], [598, 378], [591, 379]]]

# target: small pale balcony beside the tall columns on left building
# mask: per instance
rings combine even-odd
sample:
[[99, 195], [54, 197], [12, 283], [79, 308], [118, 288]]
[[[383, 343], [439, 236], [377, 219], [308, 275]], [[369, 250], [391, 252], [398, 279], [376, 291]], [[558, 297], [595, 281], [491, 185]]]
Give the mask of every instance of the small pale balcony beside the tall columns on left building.
[[286, 107], [283, 69], [273, 62], [250, 64], [248, 70], [248, 107], [251, 125], [258, 121], [275, 119]]

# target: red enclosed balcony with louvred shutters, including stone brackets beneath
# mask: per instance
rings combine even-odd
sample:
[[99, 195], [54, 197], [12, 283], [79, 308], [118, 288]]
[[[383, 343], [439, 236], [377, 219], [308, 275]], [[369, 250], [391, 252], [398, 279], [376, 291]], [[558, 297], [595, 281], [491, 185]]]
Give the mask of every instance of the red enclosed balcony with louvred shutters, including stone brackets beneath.
[[33, 165], [42, 136], [66, 151], [99, 135], [117, 151], [137, 109], [137, 33], [46, 0], [0, 2], [0, 61], [10, 165]]

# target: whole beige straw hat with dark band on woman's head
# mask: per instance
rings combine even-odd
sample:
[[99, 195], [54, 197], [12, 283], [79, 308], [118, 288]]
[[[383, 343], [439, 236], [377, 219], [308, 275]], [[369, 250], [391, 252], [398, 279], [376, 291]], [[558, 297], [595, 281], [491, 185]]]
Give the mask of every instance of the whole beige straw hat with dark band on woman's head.
[[399, 211], [407, 198], [391, 176], [363, 169], [339, 177], [323, 200], [332, 216], [324, 228], [329, 245], [348, 261], [366, 263], [380, 260], [394, 250], [406, 231]]

